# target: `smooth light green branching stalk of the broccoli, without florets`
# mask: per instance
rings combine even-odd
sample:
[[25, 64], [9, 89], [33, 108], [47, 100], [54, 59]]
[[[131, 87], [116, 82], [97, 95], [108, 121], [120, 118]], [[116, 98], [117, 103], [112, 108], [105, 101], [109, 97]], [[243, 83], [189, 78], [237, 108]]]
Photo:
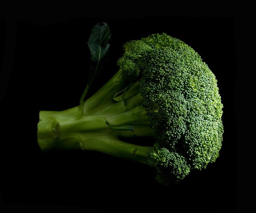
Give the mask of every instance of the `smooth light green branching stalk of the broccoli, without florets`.
[[[146, 111], [141, 106], [143, 97], [137, 82], [123, 90], [125, 82], [120, 74], [121, 71], [117, 72], [77, 107], [59, 112], [40, 111], [38, 144], [41, 150], [91, 150], [146, 164], [147, 146], [119, 139], [154, 136]], [[122, 91], [117, 92], [118, 89]]]

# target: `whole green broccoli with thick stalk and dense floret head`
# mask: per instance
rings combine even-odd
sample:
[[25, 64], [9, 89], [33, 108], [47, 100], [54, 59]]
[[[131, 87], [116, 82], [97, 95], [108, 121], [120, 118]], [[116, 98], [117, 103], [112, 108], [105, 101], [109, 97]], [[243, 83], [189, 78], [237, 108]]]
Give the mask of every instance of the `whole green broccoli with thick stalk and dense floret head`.
[[137, 161], [165, 186], [215, 162], [223, 104], [201, 56], [166, 33], [123, 48], [119, 70], [94, 95], [71, 109], [39, 112], [41, 150], [88, 150]]

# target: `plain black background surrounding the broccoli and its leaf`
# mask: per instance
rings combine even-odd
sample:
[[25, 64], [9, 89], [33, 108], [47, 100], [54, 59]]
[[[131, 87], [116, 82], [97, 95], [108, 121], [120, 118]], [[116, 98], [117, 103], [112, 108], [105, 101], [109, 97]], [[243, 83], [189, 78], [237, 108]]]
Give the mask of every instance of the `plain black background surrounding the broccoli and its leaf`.
[[[220, 157], [180, 184], [163, 187], [144, 165], [99, 153], [42, 154], [37, 138], [39, 110], [64, 110], [79, 104], [87, 83], [92, 27], [106, 22], [111, 31], [109, 72], [95, 79], [93, 94], [117, 71], [122, 45], [151, 33], [166, 32], [192, 46], [218, 80], [224, 104]], [[3, 29], [5, 22], [1, 22]], [[1, 27], [2, 27], [1, 26]], [[4, 204], [43, 209], [126, 212], [224, 212], [236, 209], [237, 156], [233, 17], [143, 16], [72, 17], [49, 23], [17, 22], [15, 60], [1, 100], [1, 193]]]

